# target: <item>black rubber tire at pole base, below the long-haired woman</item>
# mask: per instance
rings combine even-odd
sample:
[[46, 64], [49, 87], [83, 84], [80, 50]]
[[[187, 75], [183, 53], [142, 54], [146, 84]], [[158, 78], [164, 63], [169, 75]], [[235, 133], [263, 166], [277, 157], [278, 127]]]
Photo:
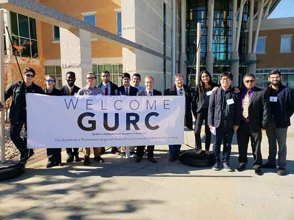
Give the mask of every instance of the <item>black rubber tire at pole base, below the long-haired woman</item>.
[[197, 150], [188, 150], [180, 154], [180, 161], [188, 166], [192, 167], [208, 167], [213, 165], [215, 158], [213, 154], [205, 154], [204, 151], [201, 154], [196, 154]]

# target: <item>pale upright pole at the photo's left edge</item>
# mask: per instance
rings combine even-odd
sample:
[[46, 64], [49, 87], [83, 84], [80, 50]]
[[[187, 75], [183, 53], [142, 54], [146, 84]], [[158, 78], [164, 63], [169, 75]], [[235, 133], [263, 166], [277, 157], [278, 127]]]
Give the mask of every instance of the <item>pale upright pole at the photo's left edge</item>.
[[[4, 106], [4, 14], [0, 11], [0, 102]], [[1, 163], [5, 162], [5, 136], [4, 136], [4, 111], [1, 111], [0, 120], [0, 145]]]

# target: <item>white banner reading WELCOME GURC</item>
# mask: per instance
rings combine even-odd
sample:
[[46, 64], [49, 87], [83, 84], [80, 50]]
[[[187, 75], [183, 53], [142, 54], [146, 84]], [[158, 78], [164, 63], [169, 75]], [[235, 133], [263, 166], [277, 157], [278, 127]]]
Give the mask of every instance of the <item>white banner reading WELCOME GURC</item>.
[[184, 96], [26, 94], [27, 147], [182, 144]]

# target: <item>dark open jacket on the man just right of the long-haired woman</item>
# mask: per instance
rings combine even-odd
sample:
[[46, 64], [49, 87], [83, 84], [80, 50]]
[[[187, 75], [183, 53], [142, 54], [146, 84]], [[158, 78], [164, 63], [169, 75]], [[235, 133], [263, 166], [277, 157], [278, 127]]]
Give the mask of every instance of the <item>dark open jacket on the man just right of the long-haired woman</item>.
[[[234, 104], [229, 105], [228, 110], [228, 122], [231, 128], [234, 125], [240, 126], [240, 96], [238, 93], [234, 93], [233, 88], [229, 88], [229, 98], [234, 100]], [[218, 90], [213, 91], [209, 99], [208, 107], [208, 125], [212, 125], [218, 128], [221, 124], [221, 106], [222, 106], [222, 95], [221, 87]]]

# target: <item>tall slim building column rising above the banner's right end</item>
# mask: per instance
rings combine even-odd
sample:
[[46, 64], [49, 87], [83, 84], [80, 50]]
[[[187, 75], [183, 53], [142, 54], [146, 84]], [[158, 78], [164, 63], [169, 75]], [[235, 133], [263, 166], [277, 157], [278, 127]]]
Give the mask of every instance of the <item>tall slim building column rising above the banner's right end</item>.
[[186, 66], [186, 0], [181, 0], [181, 55], [180, 55], [180, 73], [184, 75], [186, 83], [187, 66]]

